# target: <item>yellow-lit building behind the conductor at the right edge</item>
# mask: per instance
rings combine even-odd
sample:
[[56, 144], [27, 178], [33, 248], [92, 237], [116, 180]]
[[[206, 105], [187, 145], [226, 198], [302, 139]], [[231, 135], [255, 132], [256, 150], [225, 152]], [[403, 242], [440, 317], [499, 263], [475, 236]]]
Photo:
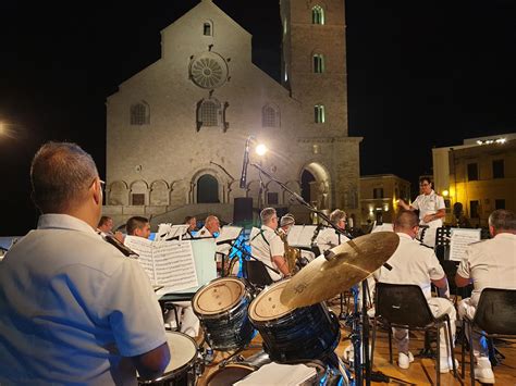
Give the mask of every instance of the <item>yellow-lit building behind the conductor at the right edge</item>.
[[471, 226], [487, 226], [495, 209], [516, 210], [516, 134], [465, 139], [432, 153], [434, 186], [446, 200], [447, 224], [463, 215]]

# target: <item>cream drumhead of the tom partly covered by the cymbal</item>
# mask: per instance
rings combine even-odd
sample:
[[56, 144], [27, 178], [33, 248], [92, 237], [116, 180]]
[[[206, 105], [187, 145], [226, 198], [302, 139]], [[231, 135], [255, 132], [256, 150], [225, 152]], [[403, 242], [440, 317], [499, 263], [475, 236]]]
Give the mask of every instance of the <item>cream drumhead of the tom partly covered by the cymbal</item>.
[[282, 281], [263, 289], [249, 306], [249, 319], [254, 322], [266, 322], [295, 310], [295, 308], [283, 306], [280, 301], [281, 292], [287, 283], [288, 279]]

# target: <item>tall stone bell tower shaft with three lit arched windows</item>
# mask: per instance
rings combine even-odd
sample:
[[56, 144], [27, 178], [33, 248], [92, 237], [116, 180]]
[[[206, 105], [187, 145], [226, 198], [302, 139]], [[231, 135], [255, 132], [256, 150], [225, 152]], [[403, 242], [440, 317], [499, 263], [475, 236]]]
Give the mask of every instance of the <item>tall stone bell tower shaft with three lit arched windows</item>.
[[304, 134], [347, 137], [344, 0], [281, 0], [282, 85], [303, 107]]

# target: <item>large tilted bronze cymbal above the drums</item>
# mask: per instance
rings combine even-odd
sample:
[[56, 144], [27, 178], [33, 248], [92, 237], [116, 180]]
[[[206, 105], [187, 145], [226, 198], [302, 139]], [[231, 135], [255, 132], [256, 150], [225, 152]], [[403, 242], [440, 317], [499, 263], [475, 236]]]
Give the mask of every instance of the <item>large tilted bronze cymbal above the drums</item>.
[[381, 267], [398, 244], [394, 232], [377, 232], [336, 246], [330, 250], [329, 260], [320, 256], [296, 273], [280, 301], [296, 308], [330, 299]]

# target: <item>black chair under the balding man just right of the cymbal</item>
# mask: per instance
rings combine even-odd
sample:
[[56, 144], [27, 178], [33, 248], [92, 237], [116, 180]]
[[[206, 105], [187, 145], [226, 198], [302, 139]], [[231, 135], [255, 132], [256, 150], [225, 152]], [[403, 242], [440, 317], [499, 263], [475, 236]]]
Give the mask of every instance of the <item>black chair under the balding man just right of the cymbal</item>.
[[[419, 329], [419, 331], [437, 331], [438, 350], [435, 353], [435, 372], [437, 384], [441, 384], [440, 373], [440, 337], [439, 328], [447, 324], [447, 339], [450, 347], [453, 347], [452, 329], [450, 325], [450, 317], [447, 314], [435, 317], [430, 311], [427, 299], [422, 294], [421, 287], [414, 284], [386, 284], [377, 283], [376, 295], [376, 315], [372, 327], [372, 343], [371, 343], [371, 368], [374, 360], [374, 340], [377, 335], [378, 320], [384, 322], [389, 329], [389, 361], [392, 360], [392, 329], [391, 327]], [[455, 356], [452, 351], [453, 374], [457, 375], [455, 366]]]

